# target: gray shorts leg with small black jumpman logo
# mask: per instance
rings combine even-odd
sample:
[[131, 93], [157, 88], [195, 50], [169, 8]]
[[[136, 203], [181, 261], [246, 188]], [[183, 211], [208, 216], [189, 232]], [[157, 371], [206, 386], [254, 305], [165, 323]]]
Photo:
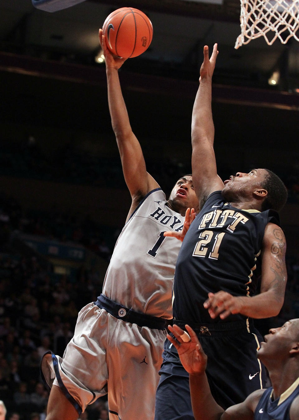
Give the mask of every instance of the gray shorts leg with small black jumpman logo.
[[110, 420], [153, 420], [165, 330], [116, 322], [107, 349]]

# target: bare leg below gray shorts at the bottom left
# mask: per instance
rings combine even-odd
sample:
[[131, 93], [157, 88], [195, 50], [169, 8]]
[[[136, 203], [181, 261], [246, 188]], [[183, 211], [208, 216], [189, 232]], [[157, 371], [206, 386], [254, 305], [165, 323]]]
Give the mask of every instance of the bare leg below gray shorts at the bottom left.
[[79, 414], [59, 386], [51, 388], [46, 420], [77, 420]]

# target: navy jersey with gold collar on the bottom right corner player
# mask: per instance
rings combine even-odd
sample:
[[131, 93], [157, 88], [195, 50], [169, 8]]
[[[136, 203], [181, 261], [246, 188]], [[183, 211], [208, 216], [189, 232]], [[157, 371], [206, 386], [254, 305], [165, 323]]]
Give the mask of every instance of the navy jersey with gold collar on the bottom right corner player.
[[272, 395], [272, 387], [262, 394], [254, 412], [254, 420], [290, 420], [291, 404], [299, 396], [299, 378], [274, 401]]

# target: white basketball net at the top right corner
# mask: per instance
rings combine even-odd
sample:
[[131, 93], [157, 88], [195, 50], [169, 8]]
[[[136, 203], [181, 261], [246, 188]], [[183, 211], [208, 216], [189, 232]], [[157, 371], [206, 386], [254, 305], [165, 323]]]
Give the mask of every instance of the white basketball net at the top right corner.
[[264, 37], [268, 45], [276, 38], [283, 44], [291, 37], [299, 41], [299, 0], [241, 0], [240, 21], [236, 49], [259, 37]]

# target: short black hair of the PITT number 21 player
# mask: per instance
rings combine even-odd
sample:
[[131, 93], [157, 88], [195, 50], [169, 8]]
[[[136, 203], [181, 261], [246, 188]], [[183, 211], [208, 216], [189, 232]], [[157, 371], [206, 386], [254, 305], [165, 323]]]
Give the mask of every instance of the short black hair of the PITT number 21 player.
[[269, 169], [265, 169], [265, 171], [267, 171], [267, 175], [262, 183], [262, 188], [265, 188], [268, 194], [263, 202], [262, 210], [273, 209], [280, 211], [286, 204], [288, 191], [279, 176]]

